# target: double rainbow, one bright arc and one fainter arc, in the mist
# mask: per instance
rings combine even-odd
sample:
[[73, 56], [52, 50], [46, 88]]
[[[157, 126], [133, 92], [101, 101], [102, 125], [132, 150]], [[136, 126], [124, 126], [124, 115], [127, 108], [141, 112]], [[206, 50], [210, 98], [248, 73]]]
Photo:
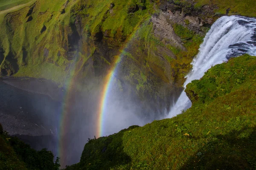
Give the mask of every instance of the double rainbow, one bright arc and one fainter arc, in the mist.
[[[103, 88], [100, 94], [100, 100], [99, 100], [99, 109], [97, 111], [97, 119], [96, 119], [96, 137], [99, 138], [101, 136], [104, 135], [104, 116], [105, 116], [105, 110], [106, 110], [106, 101], [108, 99], [108, 94], [110, 91], [110, 87], [111, 87], [111, 82], [114, 79], [114, 74], [116, 73], [116, 71], [118, 70], [118, 65], [122, 59], [123, 54], [125, 53], [125, 48], [129, 45], [130, 40], [134, 37], [136, 31], [133, 32], [133, 34], [131, 34], [131, 36], [129, 37], [129, 39], [126, 41], [125, 45], [123, 46], [123, 48], [121, 48], [122, 50], [120, 50], [120, 54], [118, 56], [116, 56], [116, 59], [114, 59], [113, 64], [111, 65], [111, 69], [108, 72], [107, 76], [105, 77], [104, 83], [103, 83]], [[64, 165], [63, 163], [65, 162], [65, 160], [63, 160], [63, 158], [65, 158], [65, 156], [67, 156], [64, 151], [65, 148], [67, 147], [67, 143], [65, 143], [65, 139], [64, 139], [64, 132], [67, 131], [68, 128], [68, 117], [69, 117], [69, 110], [70, 110], [70, 103], [72, 103], [71, 101], [71, 96], [70, 91], [72, 90], [72, 87], [75, 86], [75, 71], [78, 66], [78, 61], [75, 62], [75, 65], [73, 68], [70, 68], [70, 70], [72, 70], [72, 73], [70, 74], [70, 79], [67, 80], [67, 91], [64, 94], [63, 97], [63, 103], [62, 103], [62, 109], [61, 109], [61, 119], [60, 119], [60, 125], [59, 125], [59, 135], [58, 135], [58, 139], [59, 139], [59, 144], [58, 144], [58, 156], [61, 157], [61, 165]]]

